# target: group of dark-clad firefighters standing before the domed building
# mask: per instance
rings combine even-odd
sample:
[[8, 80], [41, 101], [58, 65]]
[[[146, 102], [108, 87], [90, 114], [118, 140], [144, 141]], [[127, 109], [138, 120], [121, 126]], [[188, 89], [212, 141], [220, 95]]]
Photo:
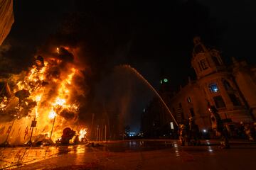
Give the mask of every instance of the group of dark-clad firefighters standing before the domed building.
[[[235, 128], [231, 129], [228, 123], [223, 123], [218, 110], [214, 106], [208, 106], [208, 111], [210, 113], [212, 137], [221, 139], [221, 149], [230, 148], [230, 137], [247, 139], [250, 142], [256, 141], [256, 123], [241, 122], [240, 125], [235, 125]], [[178, 137], [181, 145], [185, 145], [186, 142], [188, 145], [201, 145], [200, 139], [202, 135], [192, 115], [189, 115], [188, 123], [179, 125]]]

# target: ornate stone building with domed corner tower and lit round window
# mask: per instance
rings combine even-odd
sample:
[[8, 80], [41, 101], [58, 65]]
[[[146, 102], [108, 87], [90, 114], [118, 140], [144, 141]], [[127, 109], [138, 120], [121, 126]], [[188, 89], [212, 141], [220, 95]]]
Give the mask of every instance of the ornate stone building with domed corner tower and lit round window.
[[[208, 104], [218, 109], [223, 120], [233, 123], [254, 121], [256, 67], [251, 67], [246, 62], [238, 62], [235, 58], [233, 64], [227, 67], [218, 50], [206, 47], [198, 37], [193, 39], [193, 43], [191, 65], [196, 72], [196, 80], [189, 79], [188, 84], [172, 96], [168, 90], [160, 92], [176, 121], [186, 123], [189, 115], [193, 115], [201, 130], [210, 128]], [[163, 111], [152, 111], [150, 108], [148, 110], [142, 115], [142, 121], [148, 124], [163, 114]], [[162, 120], [162, 125], [159, 125], [160, 129], [172, 121], [171, 116], [166, 111], [164, 113], [167, 115]], [[146, 117], [147, 120], [143, 120]], [[149, 128], [142, 124], [142, 131], [144, 129]]]

